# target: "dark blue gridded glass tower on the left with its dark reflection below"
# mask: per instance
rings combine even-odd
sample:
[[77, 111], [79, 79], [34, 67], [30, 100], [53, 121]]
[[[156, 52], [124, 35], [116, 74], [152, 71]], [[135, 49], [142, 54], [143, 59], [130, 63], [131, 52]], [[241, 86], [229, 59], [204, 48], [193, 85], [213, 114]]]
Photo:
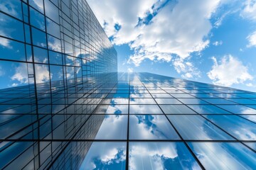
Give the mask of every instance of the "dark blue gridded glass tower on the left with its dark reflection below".
[[78, 169], [117, 52], [84, 0], [1, 1], [0, 19], [0, 169]]

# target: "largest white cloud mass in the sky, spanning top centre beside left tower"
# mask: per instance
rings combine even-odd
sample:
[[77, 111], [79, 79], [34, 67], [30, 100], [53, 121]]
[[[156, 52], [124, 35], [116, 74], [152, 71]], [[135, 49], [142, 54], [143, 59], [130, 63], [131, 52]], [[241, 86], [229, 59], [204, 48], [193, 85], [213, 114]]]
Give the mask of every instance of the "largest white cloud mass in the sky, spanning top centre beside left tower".
[[[128, 43], [134, 50], [128, 62], [139, 66], [146, 59], [171, 62], [173, 55], [181, 57], [182, 62], [191, 52], [208, 47], [212, 28], [209, 19], [220, 0], [88, 0], [88, 3], [114, 44]], [[119, 29], [114, 28], [117, 25]], [[191, 72], [186, 77], [192, 77]]]

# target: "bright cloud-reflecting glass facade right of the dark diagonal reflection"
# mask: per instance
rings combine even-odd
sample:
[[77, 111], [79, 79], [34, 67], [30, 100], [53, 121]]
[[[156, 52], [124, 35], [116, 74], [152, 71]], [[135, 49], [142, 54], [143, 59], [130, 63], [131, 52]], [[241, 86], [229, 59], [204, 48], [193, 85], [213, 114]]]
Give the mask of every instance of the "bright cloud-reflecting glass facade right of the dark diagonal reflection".
[[256, 168], [255, 93], [138, 73], [107, 98], [81, 169]]

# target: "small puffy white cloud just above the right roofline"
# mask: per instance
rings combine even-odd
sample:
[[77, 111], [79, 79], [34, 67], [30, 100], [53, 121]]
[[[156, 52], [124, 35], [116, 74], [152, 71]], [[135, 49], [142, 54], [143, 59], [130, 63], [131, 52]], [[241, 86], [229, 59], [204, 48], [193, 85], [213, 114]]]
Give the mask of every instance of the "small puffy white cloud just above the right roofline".
[[231, 86], [253, 79], [247, 67], [232, 55], [224, 56], [219, 63], [215, 57], [212, 57], [212, 59], [214, 64], [207, 75], [213, 80], [213, 84]]

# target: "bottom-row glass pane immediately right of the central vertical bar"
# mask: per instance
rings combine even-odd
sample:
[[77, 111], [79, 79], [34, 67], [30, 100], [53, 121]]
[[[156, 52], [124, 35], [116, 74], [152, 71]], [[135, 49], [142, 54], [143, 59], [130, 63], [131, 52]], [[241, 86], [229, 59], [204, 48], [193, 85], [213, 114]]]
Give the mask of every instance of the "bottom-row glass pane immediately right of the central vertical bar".
[[130, 142], [129, 169], [201, 169], [181, 142]]

